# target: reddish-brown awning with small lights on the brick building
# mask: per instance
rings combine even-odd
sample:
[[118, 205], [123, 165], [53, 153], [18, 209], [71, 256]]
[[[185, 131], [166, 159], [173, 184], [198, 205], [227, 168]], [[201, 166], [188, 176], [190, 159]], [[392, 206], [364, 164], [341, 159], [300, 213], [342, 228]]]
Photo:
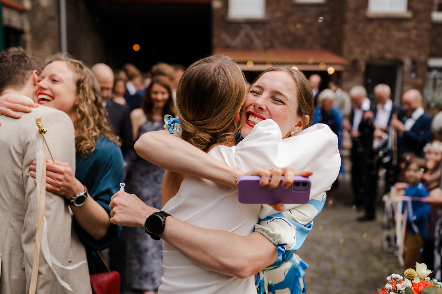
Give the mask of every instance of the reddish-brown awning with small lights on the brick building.
[[343, 71], [349, 61], [325, 49], [267, 49], [237, 50], [215, 49], [215, 54], [226, 54], [238, 63], [243, 71], [263, 71], [272, 64], [288, 64], [301, 71]]

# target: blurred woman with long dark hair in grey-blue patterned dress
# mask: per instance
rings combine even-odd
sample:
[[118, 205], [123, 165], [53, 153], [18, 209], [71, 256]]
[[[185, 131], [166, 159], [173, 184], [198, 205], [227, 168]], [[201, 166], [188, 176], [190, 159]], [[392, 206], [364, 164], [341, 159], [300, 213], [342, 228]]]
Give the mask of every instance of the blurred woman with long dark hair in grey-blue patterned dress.
[[[170, 80], [165, 76], [153, 77], [141, 108], [130, 113], [135, 141], [142, 134], [164, 129], [164, 115], [175, 115], [171, 97]], [[128, 157], [126, 191], [138, 195], [145, 204], [160, 208], [164, 169], [142, 159], [135, 150]], [[150, 238], [140, 227], [130, 228], [128, 234], [131, 287], [143, 291], [143, 294], [154, 294], [163, 276], [161, 243]]]

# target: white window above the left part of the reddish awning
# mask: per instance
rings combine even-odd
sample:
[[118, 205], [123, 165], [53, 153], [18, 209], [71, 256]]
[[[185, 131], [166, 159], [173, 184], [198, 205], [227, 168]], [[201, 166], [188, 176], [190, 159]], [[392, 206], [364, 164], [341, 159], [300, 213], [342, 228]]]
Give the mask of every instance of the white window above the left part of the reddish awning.
[[264, 19], [265, 0], [229, 0], [230, 19]]

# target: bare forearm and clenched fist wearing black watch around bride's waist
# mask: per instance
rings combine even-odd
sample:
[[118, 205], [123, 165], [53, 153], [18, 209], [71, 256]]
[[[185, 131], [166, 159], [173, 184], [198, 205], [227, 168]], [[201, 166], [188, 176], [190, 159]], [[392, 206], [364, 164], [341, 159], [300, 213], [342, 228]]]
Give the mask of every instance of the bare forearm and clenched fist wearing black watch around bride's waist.
[[[112, 196], [110, 221], [123, 226], [144, 227], [147, 216], [159, 211], [137, 196], [118, 192]], [[211, 271], [245, 279], [277, 260], [276, 247], [262, 234], [240, 236], [209, 230], [167, 217], [159, 235], [195, 263]]]

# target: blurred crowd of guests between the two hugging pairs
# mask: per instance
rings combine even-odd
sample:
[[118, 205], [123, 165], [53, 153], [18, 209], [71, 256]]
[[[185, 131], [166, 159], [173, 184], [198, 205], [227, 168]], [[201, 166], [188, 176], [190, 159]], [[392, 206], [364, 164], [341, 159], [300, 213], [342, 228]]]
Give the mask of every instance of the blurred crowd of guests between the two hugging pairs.
[[[109, 123], [122, 141], [126, 192], [137, 195], [149, 206], [161, 208], [164, 170], [141, 159], [133, 143], [146, 132], [163, 130], [164, 115], [176, 117], [176, 87], [185, 68], [157, 63], [142, 74], [129, 63], [114, 70], [98, 63], [91, 70], [101, 88]], [[162, 243], [150, 238], [144, 228], [123, 227], [118, 242], [110, 248], [110, 268], [120, 272], [122, 292], [129, 268], [130, 287], [151, 294], [163, 276]]]

